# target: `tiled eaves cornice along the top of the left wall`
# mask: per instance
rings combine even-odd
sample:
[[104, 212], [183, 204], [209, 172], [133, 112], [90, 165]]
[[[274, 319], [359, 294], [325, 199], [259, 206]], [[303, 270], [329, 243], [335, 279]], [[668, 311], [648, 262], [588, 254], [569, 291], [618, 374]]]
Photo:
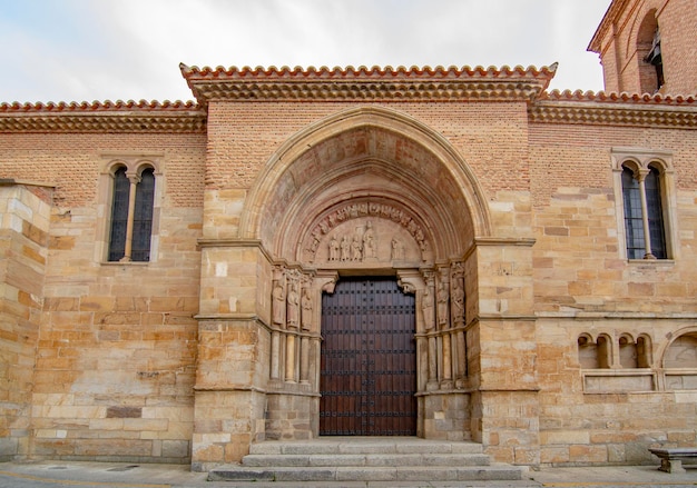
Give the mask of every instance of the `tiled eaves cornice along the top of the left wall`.
[[0, 103], [0, 132], [205, 131], [206, 112], [193, 101]]

